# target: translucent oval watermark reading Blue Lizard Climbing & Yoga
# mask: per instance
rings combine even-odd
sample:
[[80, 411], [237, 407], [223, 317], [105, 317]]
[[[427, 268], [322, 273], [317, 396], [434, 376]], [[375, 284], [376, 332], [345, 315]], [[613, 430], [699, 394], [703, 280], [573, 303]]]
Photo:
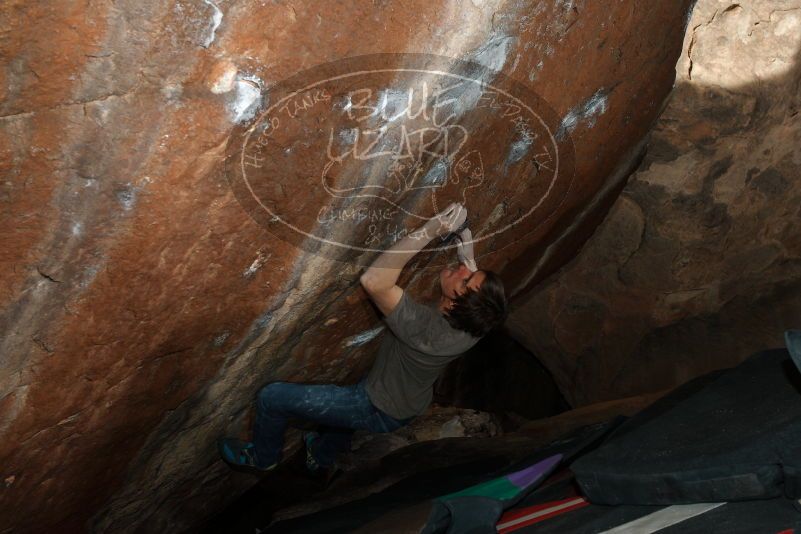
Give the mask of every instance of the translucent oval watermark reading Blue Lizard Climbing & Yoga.
[[[368, 263], [451, 202], [467, 207], [479, 257], [524, 239], [573, 179], [569, 136], [525, 86], [425, 54], [346, 58], [269, 88], [239, 127], [226, 173], [273, 235]], [[455, 243], [434, 239], [429, 266]]]

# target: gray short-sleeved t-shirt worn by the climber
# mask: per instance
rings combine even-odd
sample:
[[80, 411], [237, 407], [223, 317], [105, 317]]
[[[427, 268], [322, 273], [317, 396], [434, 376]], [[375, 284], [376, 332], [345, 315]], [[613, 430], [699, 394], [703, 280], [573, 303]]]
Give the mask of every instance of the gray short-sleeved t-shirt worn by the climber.
[[479, 338], [453, 328], [434, 305], [415, 302], [406, 291], [384, 320], [389, 329], [365, 388], [379, 410], [407, 419], [428, 408], [440, 372]]

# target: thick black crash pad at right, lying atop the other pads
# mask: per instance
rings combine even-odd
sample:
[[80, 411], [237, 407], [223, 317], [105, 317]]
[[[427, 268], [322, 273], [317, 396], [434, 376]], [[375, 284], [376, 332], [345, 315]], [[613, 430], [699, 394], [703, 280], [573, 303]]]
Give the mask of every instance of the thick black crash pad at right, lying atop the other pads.
[[596, 504], [801, 497], [801, 372], [787, 350], [691, 381], [572, 466]]

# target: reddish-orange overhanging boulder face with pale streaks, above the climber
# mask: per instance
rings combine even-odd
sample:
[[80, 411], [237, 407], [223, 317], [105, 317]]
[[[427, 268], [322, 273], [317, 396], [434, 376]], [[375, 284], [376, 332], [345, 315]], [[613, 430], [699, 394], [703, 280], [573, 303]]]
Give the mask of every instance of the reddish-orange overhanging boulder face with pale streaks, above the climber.
[[[247, 429], [261, 384], [355, 380], [369, 367], [380, 322], [358, 274], [374, 252], [321, 250], [325, 202], [353, 199], [319, 187], [386, 189], [389, 175], [355, 161], [320, 174], [297, 156], [311, 153], [303, 141], [323, 114], [281, 132], [285, 165], [274, 144], [243, 151], [256, 125], [272, 125], [272, 88], [343, 58], [414, 53], [499, 70], [518, 87], [509, 94], [535, 95], [551, 110], [540, 124], [550, 147], [569, 147], [572, 169], [554, 172], [559, 194], [526, 224], [477, 245], [482, 267], [521, 292], [571, 256], [625, 177], [617, 171], [672, 87], [690, 3], [6, 2], [0, 531], [190, 528], [251, 483], [217, 462], [214, 440]], [[388, 67], [407, 65], [398, 57]], [[393, 221], [401, 231], [435, 207], [408, 172], [431, 176], [442, 161], [447, 183], [480, 185], [465, 199], [474, 228], [504, 228], [545, 198], [532, 177], [550, 169], [535, 152], [546, 137], [462, 101], [473, 115], [456, 130], [482, 159], [446, 151], [406, 169], [394, 192], [413, 213]], [[265, 221], [242, 200], [237, 157], [240, 169], [263, 158], [270, 172], [253, 198], [286, 198], [285, 212]], [[271, 226], [288, 214], [303, 238]], [[370, 237], [369, 225], [332, 232], [351, 246]], [[402, 282], [424, 298], [435, 272]]]

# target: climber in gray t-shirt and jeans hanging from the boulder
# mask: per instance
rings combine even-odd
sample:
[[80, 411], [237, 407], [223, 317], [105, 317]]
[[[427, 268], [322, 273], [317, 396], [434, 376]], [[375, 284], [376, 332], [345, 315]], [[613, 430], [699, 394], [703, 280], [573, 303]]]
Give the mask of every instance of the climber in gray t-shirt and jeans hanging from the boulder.
[[222, 458], [234, 469], [267, 472], [281, 460], [288, 419], [320, 424], [303, 436], [306, 469], [330, 477], [334, 459], [350, 448], [354, 430], [392, 432], [409, 424], [431, 402], [433, 385], [445, 366], [500, 326], [507, 301], [500, 277], [478, 270], [473, 238], [465, 228], [457, 237], [457, 268], [439, 274], [439, 304], [419, 304], [396, 282], [406, 263], [433, 238], [456, 232], [467, 209], [451, 204], [382, 253], [362, 274], [361, 284], [385, 315], [373, 367], [350, 386], [275, 382], [257, 396], [253, 441], [223, 438]]

